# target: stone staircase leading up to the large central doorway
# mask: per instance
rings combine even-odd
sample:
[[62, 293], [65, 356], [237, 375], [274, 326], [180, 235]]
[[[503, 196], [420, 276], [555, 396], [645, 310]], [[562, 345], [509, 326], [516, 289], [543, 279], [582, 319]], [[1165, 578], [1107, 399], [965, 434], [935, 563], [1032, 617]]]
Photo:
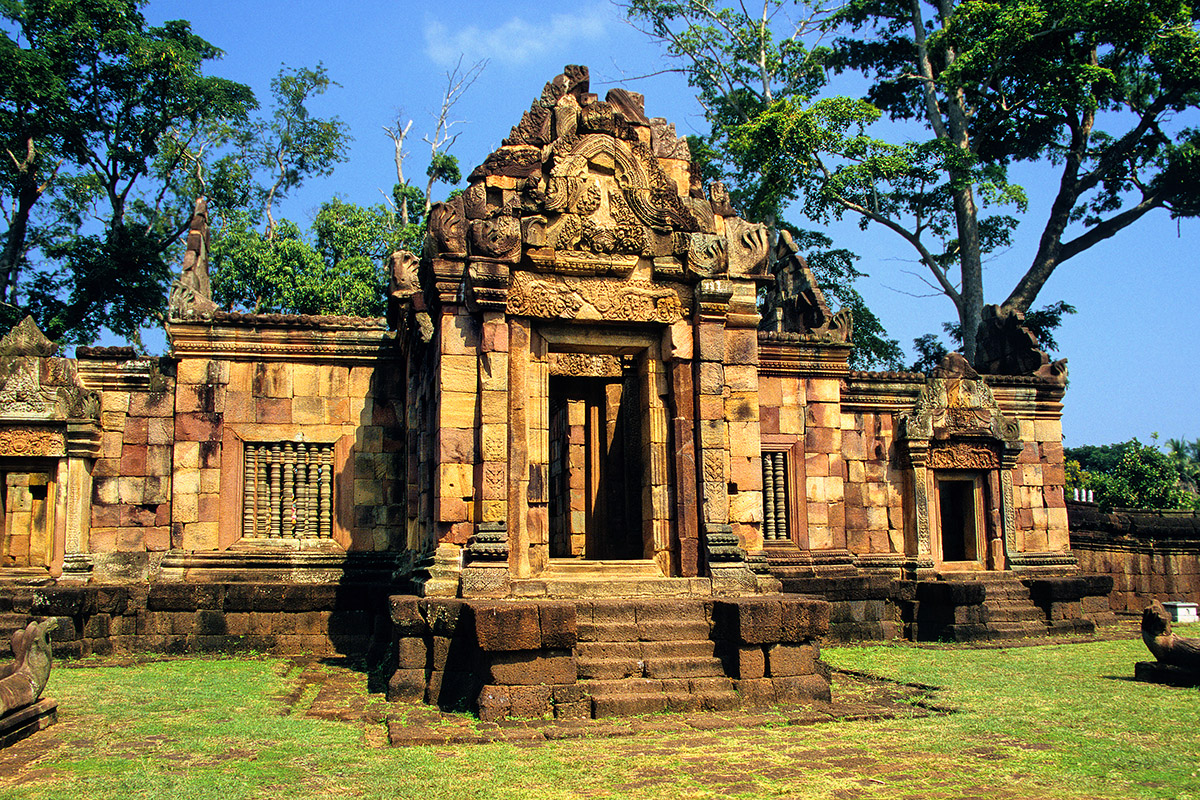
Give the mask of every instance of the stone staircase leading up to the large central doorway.
[[707, 603], [596, 600], [577, 613], [580, 685], [594, 717], [740, 704], [718, 657]]

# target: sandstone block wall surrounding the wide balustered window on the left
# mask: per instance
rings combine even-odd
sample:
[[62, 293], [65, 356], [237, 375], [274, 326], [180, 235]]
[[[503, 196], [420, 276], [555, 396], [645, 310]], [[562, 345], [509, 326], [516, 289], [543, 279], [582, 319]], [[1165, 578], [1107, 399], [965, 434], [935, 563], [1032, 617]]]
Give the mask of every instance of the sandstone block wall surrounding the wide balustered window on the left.
[[404, 546], [403, 378], [389, 362], [185, 357], [174, 396], [172, 542], [224, 549], [242, 539], [244, 445], [334, 445], [332, 539], [347, 551]]

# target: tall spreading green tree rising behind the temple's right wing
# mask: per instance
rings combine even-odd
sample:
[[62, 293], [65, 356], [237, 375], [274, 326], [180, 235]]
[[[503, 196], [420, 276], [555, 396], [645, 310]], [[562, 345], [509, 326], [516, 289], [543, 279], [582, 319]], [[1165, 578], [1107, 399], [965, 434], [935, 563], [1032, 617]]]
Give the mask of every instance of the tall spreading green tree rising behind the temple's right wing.
[[[954, 303], [974, 356], [984, 257], [1027, 210], [1014, 162], [1055, 186], [1037, 252], [1002, 308], [1028, 312], [1054, 270], [1154, 209], [1195, 216], [1200, 132], [1196, 10], [1178, 0], [850, 0], [786, 19], [715, 0], [634, 0], [698, 91], [712, 142], [751, 207], [802, 200], [810, 218], [881, 224], [917, 252]], [[838, 36], [809, 49], [805, 35]], [[869, 80], [824, 97], [826, 68]], [[908, 125], [893, 139], [882, 116]], [[906, 138], [914, 125], [925, 136]]]

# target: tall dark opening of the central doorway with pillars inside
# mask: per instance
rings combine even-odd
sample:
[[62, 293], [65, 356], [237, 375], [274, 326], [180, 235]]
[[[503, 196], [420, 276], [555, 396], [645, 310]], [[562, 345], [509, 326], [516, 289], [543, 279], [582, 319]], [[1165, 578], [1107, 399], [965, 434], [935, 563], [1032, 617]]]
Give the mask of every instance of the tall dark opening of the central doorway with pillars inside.
[[620, 365], [606, 377], [550, 378], [551, 558], [648, 558], [642, 392], [636, 365], [630, 359]]

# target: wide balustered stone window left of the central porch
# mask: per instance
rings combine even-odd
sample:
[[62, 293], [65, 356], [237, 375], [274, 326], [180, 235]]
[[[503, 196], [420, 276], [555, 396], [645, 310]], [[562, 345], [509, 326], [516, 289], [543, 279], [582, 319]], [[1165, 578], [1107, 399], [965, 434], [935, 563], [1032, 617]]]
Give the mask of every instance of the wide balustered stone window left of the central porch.
[[334, 445], [246, 443], [242, 537], [332, 536]]

